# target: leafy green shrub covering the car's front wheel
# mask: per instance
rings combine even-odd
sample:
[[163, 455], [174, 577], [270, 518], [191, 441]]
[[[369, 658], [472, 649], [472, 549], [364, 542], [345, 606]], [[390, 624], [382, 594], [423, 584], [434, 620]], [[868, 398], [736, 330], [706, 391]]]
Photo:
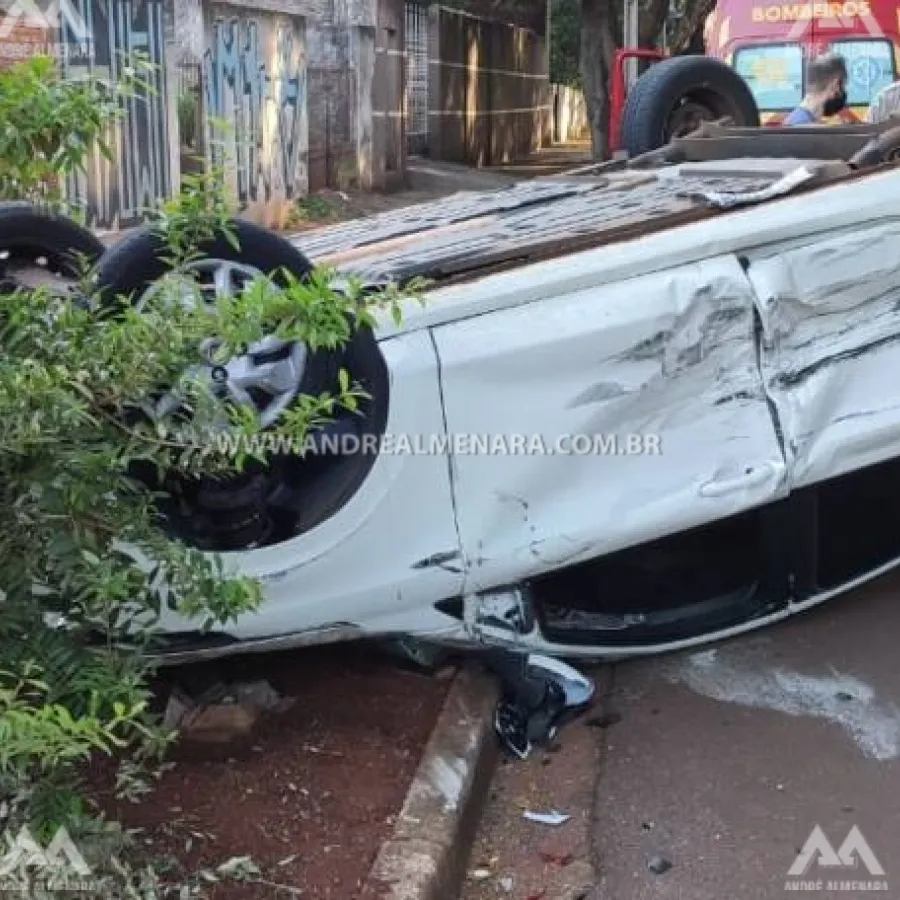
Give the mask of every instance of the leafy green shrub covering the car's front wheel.
[[[61, 200], [47, 181], [77, 169], [100, 142], [118, 115], [110, 96], [108, 85], [60, 81], [46, 60], [0, 74], [0, 194]], [[228, 233], [229, 210], [214, 172], [161, 205], [168, 284], [189, 277], [198, 241]], [[171, 738], [150, 712], [152, 667], [142, 653], [161, 614], [174, 609], [209, 627], [260, 600], [257, 582], [225, 577], [221, 560], [171, 540], [133, 477], [137, 462], [228, 474], [246, 457], [212, 440], [220, 449], [202, 454], [198, 443], [179, 444], [135, 417], [142, 398], [173, 384], [211, 334], [226, 352], [273, 329], [337, 346], [371, 324], [372, 303], [397, 309], [396, 292], [364, 305], [357, 290], [333, 290], [325, 272], [281, 291], [260, 278], [214, 308], [186, 307], [179, 296], [163, 289], [140, 311], [109, 309], [87, 279], [71, 296], [0, 294], [0, 829], [27, 822], [44, 838], [63, 824], [85, 832], [78, 773], [97, 753], [117, 755], [121, 791], [139, 797], [149, 783], [138, 773]], [[359, 396], [343, 373], [333, 395], [300, 398], [277, 430], [302, 440]], [[234, 412], [236, 429], [259, 429]]]

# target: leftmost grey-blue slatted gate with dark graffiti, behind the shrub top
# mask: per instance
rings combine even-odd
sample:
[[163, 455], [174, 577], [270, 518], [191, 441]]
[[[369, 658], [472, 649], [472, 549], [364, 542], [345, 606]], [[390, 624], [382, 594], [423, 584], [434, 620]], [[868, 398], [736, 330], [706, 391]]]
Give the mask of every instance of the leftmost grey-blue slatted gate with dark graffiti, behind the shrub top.
[[91, 74], [115, 83], [136, 54], [152, 67], [142, 76], [149, 89], [123, 98], [123, 116], [109, 140], [112, 159], [93, 154], [87, 171], [68, 185], [70, 195], [86, 205], [89, 224], [128, 227], [172, 187], [163, 0], [73, 0], [73, 7], [89, 29], [93, 52], [64, 60], [66, 77]]

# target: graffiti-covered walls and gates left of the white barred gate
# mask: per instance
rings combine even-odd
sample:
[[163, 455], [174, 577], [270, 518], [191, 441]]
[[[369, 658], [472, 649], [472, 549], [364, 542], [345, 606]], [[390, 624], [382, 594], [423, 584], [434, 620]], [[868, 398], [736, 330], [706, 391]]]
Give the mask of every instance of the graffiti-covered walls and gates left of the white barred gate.
[[[152, 94], [129, 101], [111, 135], [113, 159], [96, 154], [70, 182], [94, 227], [138, 224], [198, 154], [223, 166], [245, 216], [276, 227], [309, 190], [402, 181], [403, 0], [70, 3], [95, 39], [65, 74], [115, 78], [131, 50], [155, 65]], [[0, 66], [59, 39], [15, 29]], [[203, 133], [189, 148], [179, 101], [194, 90]], [[209, 117], [227, 131], [203, 128]]]

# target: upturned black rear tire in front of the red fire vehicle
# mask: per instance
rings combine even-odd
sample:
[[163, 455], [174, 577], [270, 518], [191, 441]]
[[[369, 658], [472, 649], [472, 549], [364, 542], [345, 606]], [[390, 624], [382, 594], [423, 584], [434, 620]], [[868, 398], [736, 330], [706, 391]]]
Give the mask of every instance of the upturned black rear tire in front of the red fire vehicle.
[[704, 112], [709, 120], [728, 116], [738, 126], [759, 126], [756, 100], [731, 66], [708, 56], [664, 59], [644, 72], [625, 98], [622, 147], [629, 156], [656, 150], [679, 135], [679, 115], [690, 123]]

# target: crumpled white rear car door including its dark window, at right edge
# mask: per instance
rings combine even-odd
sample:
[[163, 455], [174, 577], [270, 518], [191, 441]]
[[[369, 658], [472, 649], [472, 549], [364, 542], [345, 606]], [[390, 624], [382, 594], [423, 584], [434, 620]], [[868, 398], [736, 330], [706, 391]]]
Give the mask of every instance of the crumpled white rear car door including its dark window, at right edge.
[[[760, 363], [816, 548], [799, 602], [900, 559], [900, 223], [757, 251]], [[851, 541], [856, 547], [851, 547]]]

